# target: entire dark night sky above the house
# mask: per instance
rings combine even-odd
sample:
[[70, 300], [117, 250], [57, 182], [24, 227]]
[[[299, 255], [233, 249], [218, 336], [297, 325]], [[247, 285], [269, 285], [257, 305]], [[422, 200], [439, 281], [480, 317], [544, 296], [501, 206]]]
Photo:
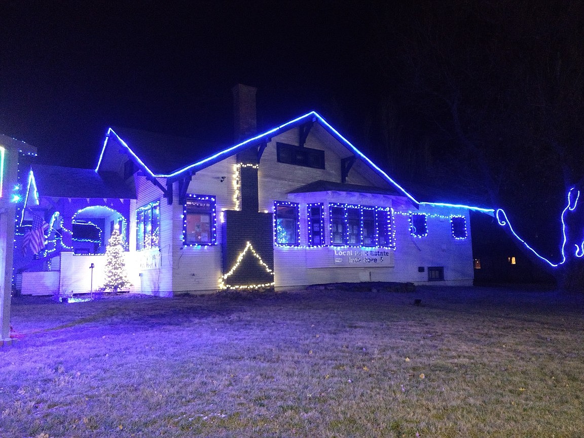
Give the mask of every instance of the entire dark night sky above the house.
[[259, 130], [316, 110], [423, 198], [513, 208], [557, 251], [584, 180], [582, 3], [94, 3], [0, 6], [0, 133], [42, 162], [92, 168], [109, 126], [227, 147], [239, 82]]

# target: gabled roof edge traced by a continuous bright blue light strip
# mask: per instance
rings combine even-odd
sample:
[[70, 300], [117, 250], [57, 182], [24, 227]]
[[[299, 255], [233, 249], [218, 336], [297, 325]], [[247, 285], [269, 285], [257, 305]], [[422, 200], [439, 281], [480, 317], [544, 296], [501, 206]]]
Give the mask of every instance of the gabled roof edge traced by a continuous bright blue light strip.
[[[388, 183], [390, 183], [390, 185], [392, 187], [394, 187], [395, 192], [397, 194], [399, 194], [399, 196], [407, 197], [410, 201], [412, 201], [413, 204], [415, 204], [415, 205], [430, 204], [433, 206], [470, 208], [471, 210], [478, 210], [478, 211], [483, 211], [484, 213], [493, 214], [494, 210], [488, 209], [488, 208], [471, 207], [471, 206], [463, 206], [463, 205], [458, 205], [458, 204], [447, 204], [447, 203], [423, 203], [423, 202], [416, 200], [415, 197], [412, 196], [412, 194], [410, 194], [409, 192], [407, 192], [404, 189], [404, 187], [399, 185], [394, 179], [392, 179], [389, 175], [387, 175], [387, 173], [385, 173], [381, 168], [379, 168], [376, 164], [374, 164], [374, 162], [371, 161], [368, 157], [366, 157], [366, 155], [364, 155], [363, 152], [359, 151], [356, 147], [354, 147], [354, 145], [349, 140], [347, 140], [345, 137], [343, 137], [343, 135], [341, 135], [325, 119], [323, 119], [318, 113], [316, 113], [314, 111], [307, 113], [307, 114], [304, 114], [303, 116], [297, 117], [296, 119], [287, 121], [286, 123], [281, 124], [280, 126], [274, 127], [274, 128], [267, 130], [263, 133], [255, 135], [251, 138], [248, 138], [247, 140], [244, 140], [242, 142], [239, 142], [238, 144], [232, 145], [231, 147], [220, 150], [214, 154], [207, 155], [205, 158], [194, 159], [193, 161], [190, 161], [190, 164], [187, 164], [187, 165], [182, 166], [182, 167], [178, 166], [173, 171], [165, 171], [165, 172], [157, 171], [157, 169], [160, 168], [158, 165], [158, 162], [161, 160], [164, 161], [166, 159], [164, 157], [164, 155], [165, 155], [164, 150], [159, 151], [159, 147], [157, 147], [157, 148], [154, 148], [154, 150], [156, 150], [157, 152], [159, 151], [159, 154], [151, 155], [151, 152], [146, 152], [146, 153], [144, 153], [144, 155], [141, 155], [141, 152], [139, 152], [139, 151], [142, 149], [142, 147], [138, 146], [138, 144], [133, 144], [133, 141], [138, 140], [136, 137], [132, 137], [130, 134], [130, 137], [124, 138], [116, 130], [114, 130], [113, 128], [109, 128], [109, 130], [107, 131], [106, 140], [104, 141], [104, 144], [103, 144], [102, 152], [101, 152], [99, 160], [98, 160], [98, 165], [96, 167], [96, 171], [99, 171], [99, 166], [102, 162], [102, 158], [103, 158], [104, 152], [105, 152], [106, 147], [107, 147], [107, 142], [108, 142], [108, 139], [110, 137], [116, 137], [117, 140], [119, 140], [120, 144], [126, 148], [127, 153], [129, 155], [133, 156], [135, 158], [135, 160], [137, 161], [138, 165], [141, 166], [142, 170], [148, 174], [147, 176], [149, 176], [150, 178], [173, 179], [173, 178], [179, 178], [179, 176], [181, 174], [197, 172], [201, 169], [207, 168], [208, 166], [213, 165], [216, 162], [219, 162], [225, 158], [231, 157], [232, 155], [235, 155], [238, 152], [245, 150], [246, 148], [256, 146], [256, 145], [258, 145], [259, 142], [269, 141], [272, 137], [279, 135], [279, 134], [283, 133], [284, 131], [290, 130], [293, 127], [304, 124], [307, 121], [318, 122], [322, 127], [324, 127], [332, 135], [332, 137], [336, 138], [336, 140], [338, 140], [342, 145], [344, 145], [347, 148], [347, 150], [352, 152], [352, 154], [355, 157], [357, 157], [358, 159], [363, 161], [367, 166], [369, 166], [378, 175], [380, 175], [381, 178], [385, 179]], [[132, 140], [130, 140], [130, 138], [132, 138]], [[152, 141], [149, 141], [149, 143], [152, 144]], [[193, 149], [192, 145], [193, 145], [192, 142], [187, 141], [187, 147], [189, 147], [189, 150]], [[188, 155], [189, 152], [185, 151], [185, 154]], [[187, 161], [186, 158], [185, 158], [185, 162], [189, 163], [189, 161]], [[168, 168], [169, 165], [170, 165], [170, 163], [166, 164], [165, 167]]]

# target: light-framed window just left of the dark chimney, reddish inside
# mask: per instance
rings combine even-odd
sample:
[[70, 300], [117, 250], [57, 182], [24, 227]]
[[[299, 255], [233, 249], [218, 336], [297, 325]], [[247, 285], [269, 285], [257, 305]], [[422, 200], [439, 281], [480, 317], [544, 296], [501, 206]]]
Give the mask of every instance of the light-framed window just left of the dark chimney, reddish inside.
[[183, 210], [183, 244], [214, 245], [217, 241], [215, 198], [187, 194]]

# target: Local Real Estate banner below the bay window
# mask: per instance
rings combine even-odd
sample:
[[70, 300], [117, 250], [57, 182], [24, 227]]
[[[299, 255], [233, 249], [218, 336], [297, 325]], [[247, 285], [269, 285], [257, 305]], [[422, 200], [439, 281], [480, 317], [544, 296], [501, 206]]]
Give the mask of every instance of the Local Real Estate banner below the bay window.
[[391, 267], [394, 251], [389, 248], [327, 246], [306, 251], [307, 267]]

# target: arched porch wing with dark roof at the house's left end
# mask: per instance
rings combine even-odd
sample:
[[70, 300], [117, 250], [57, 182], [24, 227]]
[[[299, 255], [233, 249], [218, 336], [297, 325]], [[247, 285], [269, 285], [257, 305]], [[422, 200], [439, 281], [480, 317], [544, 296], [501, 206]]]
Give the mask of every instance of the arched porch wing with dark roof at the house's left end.
[[[32, 164], [22, 176], [24, 206], [16, 218], [15, 246], [22, 248], [34, 217], [46, 221], [47, 242], [34, 255], [16, 252], [16, 289], [38, 295], [95, 290], [103, 284], [104, 255], [114, 227], [128, 249], [135, 192], [115, 173], [93, 169]], [[89, 267], [92, 263], [97, 269]]]

